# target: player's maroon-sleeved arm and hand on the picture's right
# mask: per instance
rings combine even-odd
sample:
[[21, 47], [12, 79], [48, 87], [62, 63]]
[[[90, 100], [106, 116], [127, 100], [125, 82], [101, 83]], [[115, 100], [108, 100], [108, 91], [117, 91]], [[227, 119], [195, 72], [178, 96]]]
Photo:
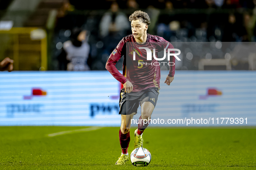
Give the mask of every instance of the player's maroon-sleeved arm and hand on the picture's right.
[[[169, 48], [174, 48], [174, 47], [173, 47], [173, 45], [172, 45], [171, 43], [169, 43], [169, 42], [166, 41], [165, 39], [163, 39], [163, 38], [161, 38], [161, 39], [166, 42], [166, 43], [165, 43], [165, 48], [166, 48], [166, 46], [168, 46], [167, 49], [166, 49], [166, 51], [165, 51], [166, 54], [167, 54], [168, 49], [169, 49]], [[175, 53], [175, 51], [171, 51], [171, 53]], [[170, 85], [171, 82], [172, 82], [173, 79], [174, 79], [174, 74], [175, 74], [175, 57], [174, 57], [174, 56], [170, 56], [169, 62], [172, 63], [172, 64], [170, 64], [169, 74], [168, 74], [168, 76], [167, 76], [166, 79], [165, 79], [165, 83], [166, 83], [167, 85]]]

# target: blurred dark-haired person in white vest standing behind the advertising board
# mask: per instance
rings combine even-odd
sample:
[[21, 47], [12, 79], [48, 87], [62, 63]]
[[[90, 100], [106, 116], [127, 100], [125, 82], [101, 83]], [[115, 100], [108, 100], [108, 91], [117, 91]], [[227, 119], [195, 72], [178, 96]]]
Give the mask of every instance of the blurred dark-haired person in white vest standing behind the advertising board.
[[87, 65], [89, 52], [90, 45], [86, 41], [86, 31], [74, 28], [71, 33], [71, 40], [63, 44], [62, 53], [58, 56], [59, 67], [63, 67], [68, 60], [67, 70], [69, 71], [90, 70]]

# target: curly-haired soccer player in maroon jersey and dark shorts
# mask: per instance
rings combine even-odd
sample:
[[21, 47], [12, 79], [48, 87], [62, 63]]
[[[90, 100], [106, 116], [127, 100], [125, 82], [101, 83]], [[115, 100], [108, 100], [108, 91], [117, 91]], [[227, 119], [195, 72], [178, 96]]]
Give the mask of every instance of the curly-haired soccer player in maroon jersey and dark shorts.
[[[131, 53], [131, 51], [128, 51], [127, 53], [126, 51], [129, 49], [136, 50], [136, 47], [157, 48], [156, 44], [159, 44], [159, 46], [162, 44], [162, 50], [166, 50], [167, 47], [173, 48], [172, 44], [162, 37], [147, 34], [147, 29], [150, 24], [150, 19], [147, 13], [140, 10], [135, 11], [130, 15], [129, 20], [131, 22], [133, 35], [124, 37], [120, 41], [106, 63], [106, 69], [115, 79], [121, 82], [124, 87], [120, 91], [119, 103], [119, 114], [121, 114], [119, 139], [122, 154], [116, 162], [116, 165], [124, 165], [125, 162], [128, 161], [129, 156], [127, 150], [130, 143], [131, 119], [133, 119], [133, 115], [137, 113], [139, 104], [141, 106], [141, 116], [139, 117], [138, 129], [135, 130], [134, 134], [134, 148], [143, 147], [142, 134], [149, 125], [148, 120], [151, 118], [151, 114], [156, 106], [160, 89], [160, 66], [158, 66], [158, 64], [152, 64], [156, 62], [158, 63], [158, 61], [153, 58], [152, 61], [147, 61], [149, 63], [145, 65], [142, 62], [146, 62], [147, 60], [146, 50], [141, 49], [141, 55], [137, 55], [136, 60], [133, 60], [133, 53]], [[129, 42], [134, 45], [129, 44]], [[155, 54], [157, 55], [157, 52], [160, 50], [155, 50]], [[123, 74], [121, 74], [115, 66], [122, 56], [124, 56]], [[167, 85], [170, 85], [174, 79], [175, 57], [171, 56], [169, 62], [172, 62], [173, 64], [170, 64], [170, 71], [165, 79]]]

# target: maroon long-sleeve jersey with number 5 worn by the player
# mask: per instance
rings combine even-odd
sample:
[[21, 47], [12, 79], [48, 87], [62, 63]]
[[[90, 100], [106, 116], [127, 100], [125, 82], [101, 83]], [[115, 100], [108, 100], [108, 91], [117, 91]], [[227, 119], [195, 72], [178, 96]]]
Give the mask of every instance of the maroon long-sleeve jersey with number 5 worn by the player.
[[[152, 60], [147, 60], [145, 47], [151, 50]], [[147, 41], [144, 44], [139, 44], [133, 35], [129, 35], [124, 37], [113, 50], [107, 60], [106, 69], [122, 84], [129, 80], [133, 84], [134, 92], [151, 87], [160, 88], [160, 66], [170, 66], [168, 76], [173, 77], [175, 74], [175, 57], [170, 56], [169, 63], [164, 63], [156, 60], [153, 55], [155, 54], [155, 57], [158, 58], [158, 52], [170, 48], [173, 48], [172, 44], [159, 36], [147, 34]], [[167, 50], [165, 52], [167, 58]], [[124, 56], [123, 74], [115, 66], [122, 56]]]

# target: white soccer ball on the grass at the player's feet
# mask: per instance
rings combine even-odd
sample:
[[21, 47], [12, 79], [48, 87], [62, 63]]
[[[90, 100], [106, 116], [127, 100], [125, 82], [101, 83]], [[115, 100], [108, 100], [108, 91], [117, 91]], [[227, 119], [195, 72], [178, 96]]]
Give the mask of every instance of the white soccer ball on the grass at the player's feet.
[[151, 154], [146, 148], [136, 148], [132, 151], [130, 160], [133, 166], [146, 167], [151, 161]]

